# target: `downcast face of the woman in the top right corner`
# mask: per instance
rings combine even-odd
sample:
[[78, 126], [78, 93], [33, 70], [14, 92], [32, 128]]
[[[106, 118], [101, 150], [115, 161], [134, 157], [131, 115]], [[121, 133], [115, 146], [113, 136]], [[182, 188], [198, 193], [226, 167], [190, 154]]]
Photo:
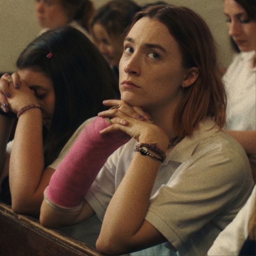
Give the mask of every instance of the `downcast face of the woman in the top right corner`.
[[245, 9], [234, 0], [225, 0], [224, 13], [229, 35], [237, 43], [240, 51], [255, 50], [256, 22], [249, 20]]

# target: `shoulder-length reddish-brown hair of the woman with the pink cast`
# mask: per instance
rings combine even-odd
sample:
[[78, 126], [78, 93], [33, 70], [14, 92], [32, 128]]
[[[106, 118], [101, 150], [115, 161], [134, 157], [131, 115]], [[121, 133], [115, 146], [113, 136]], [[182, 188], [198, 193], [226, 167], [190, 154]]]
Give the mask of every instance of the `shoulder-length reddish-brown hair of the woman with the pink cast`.
[[213, 117], [223, 128], [226, 93], [217, 65], [215, 42], [205, 21], [186, 7], [155, 5], [138, 12], [127, 33], [142, 17], [166, 25], [178, 42], [184, 67], [199, 69], [197, 80], [184, 88], [184, 97], [177, 106], [173, 120], [175, 131], [181, 138], [192, 135], [199, 122], [208, 117]]

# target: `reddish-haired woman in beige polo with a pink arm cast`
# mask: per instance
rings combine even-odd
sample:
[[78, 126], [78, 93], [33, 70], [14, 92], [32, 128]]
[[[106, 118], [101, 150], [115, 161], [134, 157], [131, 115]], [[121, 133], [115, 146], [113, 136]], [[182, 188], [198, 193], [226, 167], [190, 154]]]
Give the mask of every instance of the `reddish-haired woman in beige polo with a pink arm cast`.
[[[104, 101], [114, 107], [99, 113], [94, 127], [102, 117], [111, 123], [98, 128], [86, 150], [79, 138], [52, 176], [43, 225], [78, 223], [96, 213], [103, 219], [96, 247], [104, 254], [167, 241], [170, 254], [207, 253], [253, 187], [244, 150], [222, 131], [225, 90], [213, 41], [203, 19], [185, 7], [156, 5], [135, 16], [119, 65], [121, 101]], [[120, 131], [132, 138], [91, 185], [101, 166], [88, 160], [79, 168], [75, 154], [96, 155], [96, 143], [113, 146], [104, 136]]]

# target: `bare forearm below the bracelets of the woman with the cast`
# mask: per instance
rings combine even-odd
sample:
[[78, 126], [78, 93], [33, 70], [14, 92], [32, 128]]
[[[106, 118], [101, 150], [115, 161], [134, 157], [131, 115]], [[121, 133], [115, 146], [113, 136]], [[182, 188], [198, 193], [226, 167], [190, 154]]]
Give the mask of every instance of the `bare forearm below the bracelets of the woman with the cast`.
[[144, 224], [159, 167], [158, 160], [135, 153], [106, 210], [96, 244], [101, 252], [123, 254], [138, 246], [136, 233]]

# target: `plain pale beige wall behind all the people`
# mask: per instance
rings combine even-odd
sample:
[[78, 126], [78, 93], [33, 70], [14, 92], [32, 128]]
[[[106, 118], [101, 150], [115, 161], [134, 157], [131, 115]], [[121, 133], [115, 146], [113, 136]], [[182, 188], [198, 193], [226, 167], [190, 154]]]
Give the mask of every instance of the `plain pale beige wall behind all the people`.
[[[124, 0], [125, 1], [125, 0]], [[106, 0], [94, 0], [98, 8]], [[143, 5], [150, 0], [136, 0]], [[223, 0], [166, 0], [197, 11], [208, 23], [217, 42], [222, 66], [231, 60], [231, 48], [223, 15]], [[34, 0], [0, 0], [0, 72], [15, 71], [15, 61], [40, 28], [34, 15]], [[189, 43], [189, 42], [188, 42]]]

